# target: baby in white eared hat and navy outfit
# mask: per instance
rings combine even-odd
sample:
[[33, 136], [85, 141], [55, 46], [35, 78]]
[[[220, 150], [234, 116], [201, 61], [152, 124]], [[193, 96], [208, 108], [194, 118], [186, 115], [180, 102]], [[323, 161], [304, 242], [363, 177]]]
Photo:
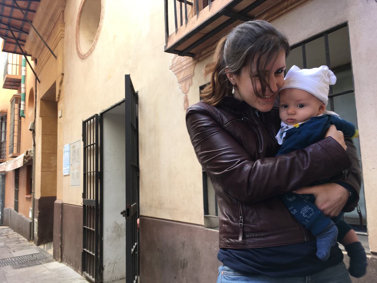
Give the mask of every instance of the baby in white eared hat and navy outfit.
[[[335, 125], [345, 136], [358, 136], [357, 129], [351, 123], [326, 110], [329, 85], [335, 83], [336, 76], [327, 66], [313, 69], [292, 66], [280, 89], [282, 122], [276, 139], [282, 147], [277, 155], [303, 149], [322, 140], [330, 125]], [[326, 183], [326, 180], [321, 183]], [[341, 215], [334, 218], [334, 224], [314, 205], [313, 195], [288, 193], [281, 197], [293, 216], [316, 236], [318, 258], [327, 260], [331, 247], [339, 241], [350, 257], [349, 273], [354, 277], [365, 274], [367, 263], [364, 248], [351, 226], [340, 220]]]

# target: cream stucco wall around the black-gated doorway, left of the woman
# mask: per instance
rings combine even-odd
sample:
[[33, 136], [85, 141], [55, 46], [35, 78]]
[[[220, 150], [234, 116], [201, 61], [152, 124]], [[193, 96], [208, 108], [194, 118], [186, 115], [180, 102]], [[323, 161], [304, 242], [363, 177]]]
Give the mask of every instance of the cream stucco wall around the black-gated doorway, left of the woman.
[[[97, 46], [82, 62], [75, 48], [79, 2], [66, 2], [63, 144], [81, 139], [82, 120], [124, 98], [130, 74], [139, 91], [141, 214], [202, 224], [201, 169], [185, 128], [184, 95], [169, 70], [173, 55], [163, 52], [163, 5], [105, 5]], [[81, 205], [82, 188], [69, 181], [63, 177], [63, 201]]]

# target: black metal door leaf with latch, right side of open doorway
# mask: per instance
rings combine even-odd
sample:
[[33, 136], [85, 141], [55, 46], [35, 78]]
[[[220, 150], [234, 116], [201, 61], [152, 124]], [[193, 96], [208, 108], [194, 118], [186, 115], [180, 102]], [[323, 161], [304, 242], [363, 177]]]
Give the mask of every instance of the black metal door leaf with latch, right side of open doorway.
[[139, 282], [139, 131], [138, 94], [125, 76], [126, 107], [126, 283]]

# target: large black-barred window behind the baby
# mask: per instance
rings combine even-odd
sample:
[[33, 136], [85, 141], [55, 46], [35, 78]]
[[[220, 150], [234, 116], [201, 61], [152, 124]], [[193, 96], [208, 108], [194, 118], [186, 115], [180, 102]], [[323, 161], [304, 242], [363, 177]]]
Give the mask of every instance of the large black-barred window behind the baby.
[[[327, 109], [335, 111], [345, 120], [357, 127], [355, 93], [351, 66], [351, 52], [349, 49], [348, 26], [346, 23], [324, 31], [303, 42], [291, 46], [291, 54], [287, 58], [287, 71], [292, 65], [300, 68], [314, 68], [321, 65], [328, 66], [336, 75], [337, 82], [330, 86]], [[359, 138], [353, 140], [360, 160]], [[361, 166], [361, 161], [360, 161]], [[363, 223], [360, 226], [357, 211], [346, 213], [345, 220], [357, 231], [366, 232], [365, 197], [362, 185], [360, 191], [360, 210]]]

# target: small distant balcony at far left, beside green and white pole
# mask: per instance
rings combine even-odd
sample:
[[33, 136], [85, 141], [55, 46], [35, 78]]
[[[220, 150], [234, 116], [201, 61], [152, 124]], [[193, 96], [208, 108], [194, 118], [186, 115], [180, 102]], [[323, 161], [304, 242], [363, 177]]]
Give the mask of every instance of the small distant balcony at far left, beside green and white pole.
[[18, 89], [21, 85], [21, 56], [6, 53], [3, 88]]

